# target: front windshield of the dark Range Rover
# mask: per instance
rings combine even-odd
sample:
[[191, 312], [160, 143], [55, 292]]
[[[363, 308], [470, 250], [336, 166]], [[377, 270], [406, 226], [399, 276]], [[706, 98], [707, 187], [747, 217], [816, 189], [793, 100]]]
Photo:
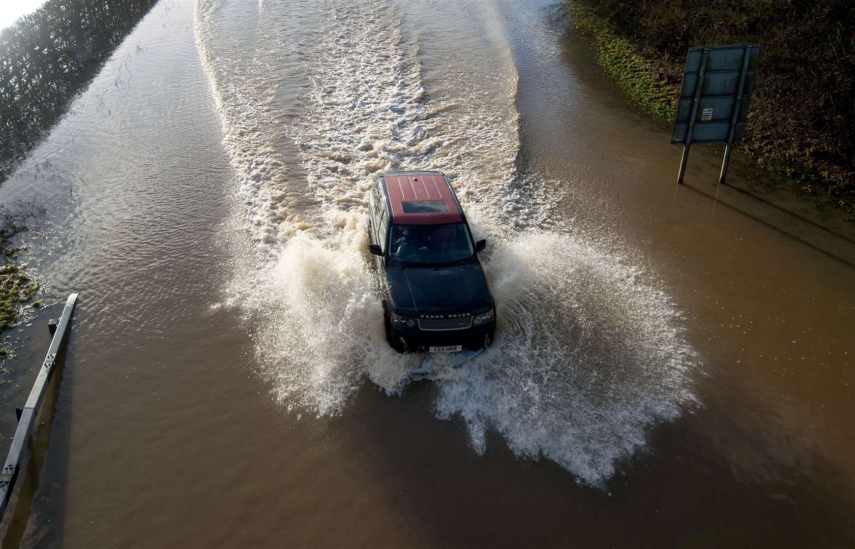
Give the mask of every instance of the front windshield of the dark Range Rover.
[[463, 223], [392, 225], [389, 257], [400, 263], [451, 263], [472, 257], [472, 239]]

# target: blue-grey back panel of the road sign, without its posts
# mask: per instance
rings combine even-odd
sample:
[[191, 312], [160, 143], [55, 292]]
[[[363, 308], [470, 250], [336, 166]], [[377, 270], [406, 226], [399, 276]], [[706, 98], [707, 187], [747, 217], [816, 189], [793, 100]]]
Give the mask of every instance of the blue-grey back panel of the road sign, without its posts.
[[760, 44], [689, 48], [671, 132], [673, 145], [728, 143], [731, 125], [730, 142], [742, 140], [759, 56]]

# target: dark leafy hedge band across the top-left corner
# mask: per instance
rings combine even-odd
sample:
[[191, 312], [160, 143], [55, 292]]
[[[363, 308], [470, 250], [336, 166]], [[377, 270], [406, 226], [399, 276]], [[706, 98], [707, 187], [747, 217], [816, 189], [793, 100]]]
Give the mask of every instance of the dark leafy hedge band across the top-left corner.
[[0, 34], [0, 182], [156, 0], [53, 0]]

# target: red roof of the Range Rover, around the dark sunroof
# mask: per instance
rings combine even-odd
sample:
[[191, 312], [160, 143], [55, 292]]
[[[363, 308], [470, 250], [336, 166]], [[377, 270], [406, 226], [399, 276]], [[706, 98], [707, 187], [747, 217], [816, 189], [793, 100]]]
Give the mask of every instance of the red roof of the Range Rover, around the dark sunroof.
[[[392, 203], [392, 225], [434, 225], [439, 223], [459, 223], [463, 214], [457, 206], [457, 200], [451, 187], [442, 175], [407, 174], [388, 175], [386, 190]], [[426, 213], [405, 213], [401, 203], [431, 200], [444, 202], [448, 211]]]

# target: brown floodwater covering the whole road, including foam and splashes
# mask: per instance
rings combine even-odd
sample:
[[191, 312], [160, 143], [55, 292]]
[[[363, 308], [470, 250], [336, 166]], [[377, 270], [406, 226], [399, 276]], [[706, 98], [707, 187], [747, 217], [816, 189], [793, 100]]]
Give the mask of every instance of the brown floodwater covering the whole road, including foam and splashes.
[[[855, 231], [628, 107], [550, 3], [162, 2], [3, 200], [48, 207], [14, 546], [853, 546]], [[410, 381], [365, 192], [450, 174], [492, 347]], [[27, 326], [31, 324], [31, 326]]]

